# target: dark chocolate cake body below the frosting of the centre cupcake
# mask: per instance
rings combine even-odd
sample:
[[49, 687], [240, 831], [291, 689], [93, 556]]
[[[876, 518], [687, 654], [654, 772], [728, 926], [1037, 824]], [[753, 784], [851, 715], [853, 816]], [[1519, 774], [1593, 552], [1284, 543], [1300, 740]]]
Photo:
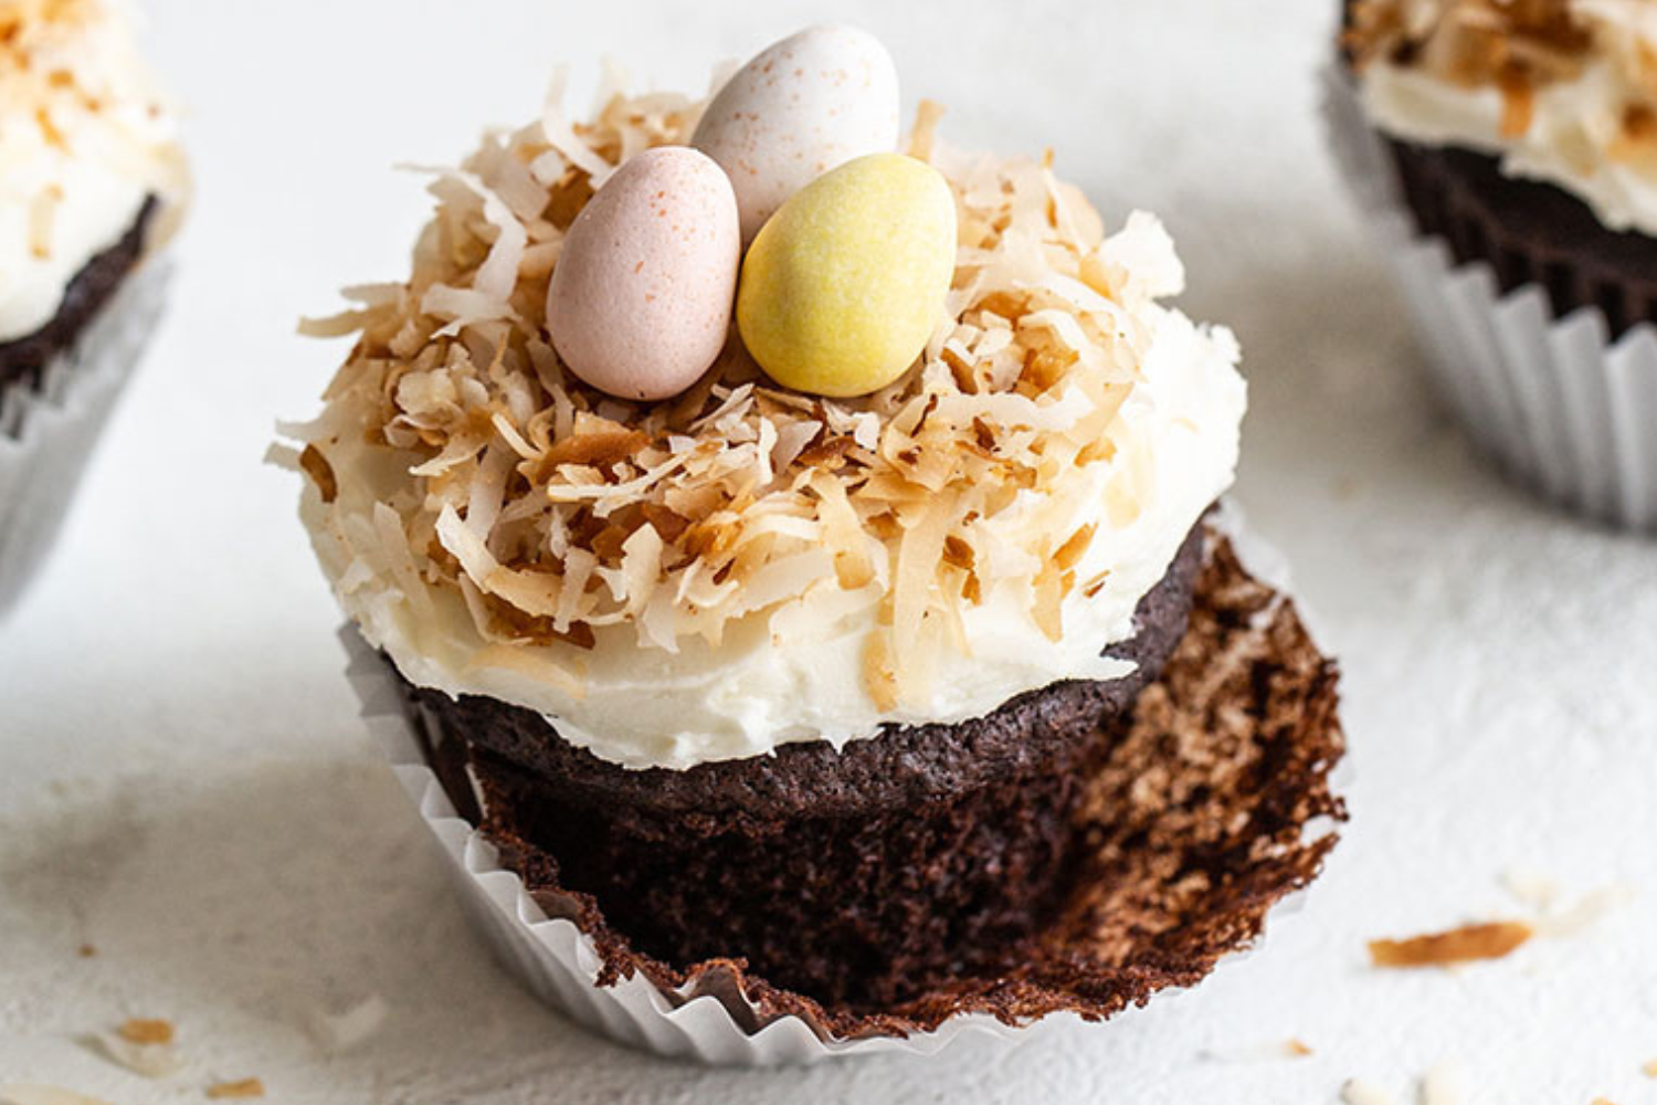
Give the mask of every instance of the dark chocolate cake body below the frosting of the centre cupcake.
[[1193, 530], [1118, 648], [1133, 676], [1057, 683], [954, 726], [835, 750], [626, 770], [532, 711], [404, 686], [437, 746], [486, 780], [524, 840], [558, 858], [664, 963], [746, 958], [825, 1006], [882, 1009], [966, 967], [1011, 963], [1074, 860], [1080, 780], [1185, 636]]

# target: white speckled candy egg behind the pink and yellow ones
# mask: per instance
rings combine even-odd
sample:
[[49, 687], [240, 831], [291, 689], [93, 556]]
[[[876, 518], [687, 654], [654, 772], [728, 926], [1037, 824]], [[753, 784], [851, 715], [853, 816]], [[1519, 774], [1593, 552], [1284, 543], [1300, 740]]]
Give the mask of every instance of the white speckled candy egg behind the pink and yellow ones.
[[898, 70], [853, 27], [812, 27], [737, 70], [691, 146], [731, 174], [742, 242], [824, 172], [898, 142]]

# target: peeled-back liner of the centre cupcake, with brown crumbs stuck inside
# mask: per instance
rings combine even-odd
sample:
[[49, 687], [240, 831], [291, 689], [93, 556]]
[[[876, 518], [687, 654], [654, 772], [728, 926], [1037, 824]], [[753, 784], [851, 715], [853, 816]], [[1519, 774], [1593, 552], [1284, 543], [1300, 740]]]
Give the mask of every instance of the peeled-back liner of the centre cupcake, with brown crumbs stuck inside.
[[[428, 765], [419, 722], [411, 719], [389, 664], [353, 625], [341, 628], [340, 639], [361, 714], [437, 838], [467, 914], [497, 959], [540, 1001], [621, 1044], [711, 1065], [928, 1055], [961, 1037], [1009, 1037], [1051, 1012], [1102, 1019], [1143, 1004], [1152, 992], [1198, 982], [1220, 958], [1253, 946], [1268, 913], [1278, 918], [1297, 908], [1297, 891], [1334, 847], [1334, 827], [1344, 818], [1331, 780], [1344, 752], [1336, 666], [1317, 651], [1294, 603], [1244, 570], [1228, 538], [1211, 535], [1210, 545], [1193, 628], [1163, 679], [1143, 692], [1137, 706], [1143, 721], [1122, 741], [1138, 746], [1158, 767], [1170, 762], [1163, 757], [1178, 760], [1181, 752], [1173, 749], [1183, 749], [1186, 774], [1162, 774], [1173, 777], [1170, 785], [1185, 799], [1163, 795], [1150, 812], [1157, 820], [1150, 828], [1132, 815], [1120, 817], [1118, 838], [1099, 845], [1097, 885], [1080, 880], [1072, 895], [1080, 905], [1054, 924], [1069, 934], [1056, 938], [1057, 951], [1044, 967], [968, 981], [959, 991], [918, 1002], [921, 1012], [895, 1016], [824, 1011], [746, 976], [739, 963], [674, 972], [623, 948], [626, 963], [618, 969], [618, 934], [578, 923], [583, 910], [585, 918], [593, 916], [592, 900], [558, 891], [587, 905], [553, 903], [558, 916], [548, 916], [519, 873], [502, 865], [486, 833], [456, 813]], [[1256, 547], [1253, 540], [1248, 545], [1251, 563]], [[1274, 575], [1274, 557], [1264, 555], [1263, 573]], [[1261, 770], [1268, 757], [1271, 769]], [[1157, 790], [1140, 785], [1147, 780], [1138, 772], [1123, 774], [1117, 759], [1112, 754], [1099, 770], [1099, 795]], [[1191, 769], [1195, 762], [1203, 767]], [[1213, 777], [1193, 779], [1190, 770]], [[1104, 785], [1112, 772], [1118, 777]], [[1205, 807], [1190, 797], [1193, 784], [1205, 794], [1234, 790], [1234, 805], [1213, 797]], [[1118, 848], [1128, 837], [1155, 842], [1158, 833], [1170, 840], [1186, 833], [1188, 853], [1155, 843]], [[1195, 855], [1213, 866], [1193, 868]], [[537, 893], [547, 901], [542, 888]], [[1110, 929], [1114, 914], [1132, 919]]]

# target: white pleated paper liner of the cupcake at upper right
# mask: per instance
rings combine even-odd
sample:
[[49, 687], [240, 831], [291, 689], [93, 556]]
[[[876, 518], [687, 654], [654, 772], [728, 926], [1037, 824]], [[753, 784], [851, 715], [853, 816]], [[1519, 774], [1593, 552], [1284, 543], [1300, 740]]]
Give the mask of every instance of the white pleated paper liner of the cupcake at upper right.
[[1516, 482], [1579, 515], [1657, 530], [1657, 326], [1611, 341], [1604, 311], [1556, 318], [1548, 293], [1501, 293], [1486, 263], [1457, 265], [1423, 235], [1352, 78], [1322, 75], [1336, 164], [1392, 260], [1425, 364], [1478, 447]]

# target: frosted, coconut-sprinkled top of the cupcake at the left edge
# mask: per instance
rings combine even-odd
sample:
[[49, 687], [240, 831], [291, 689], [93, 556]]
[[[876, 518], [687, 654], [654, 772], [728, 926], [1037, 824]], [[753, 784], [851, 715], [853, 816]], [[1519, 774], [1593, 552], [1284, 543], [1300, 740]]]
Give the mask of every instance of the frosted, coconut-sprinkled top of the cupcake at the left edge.
[[[174, 118], [103, 0], [0, 0], [0, 341], [58, 311], [70, 280], [151, 195], [186, 191]], [[162, 217], [151, 242], [171, 225]]]

